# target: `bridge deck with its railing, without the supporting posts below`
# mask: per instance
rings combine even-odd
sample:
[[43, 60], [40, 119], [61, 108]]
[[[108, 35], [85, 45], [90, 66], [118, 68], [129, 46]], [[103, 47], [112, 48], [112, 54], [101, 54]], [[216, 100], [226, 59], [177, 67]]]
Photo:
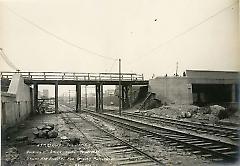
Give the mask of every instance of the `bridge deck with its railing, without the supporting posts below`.
[[[1, 72], [1, 78], [11, 79], [13, 74], [19, 73], [23, 76], [26, 84], [55, 84], [74, 85], [118, 85], [119, 73], [71, 73], [71, 72]], [[147, 85], [143, 75], [135, 73], [121, 73], [122, 84]]]

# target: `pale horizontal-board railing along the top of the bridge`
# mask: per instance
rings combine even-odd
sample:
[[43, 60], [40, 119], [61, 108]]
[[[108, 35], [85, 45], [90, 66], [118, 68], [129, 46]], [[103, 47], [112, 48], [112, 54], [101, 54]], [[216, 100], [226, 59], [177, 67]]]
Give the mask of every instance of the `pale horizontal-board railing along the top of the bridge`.
[[[72, 72], [1, 72], [1, 78], [11, 79], [19, 73], [27, 80], [79, 80], [79, 81], [118, 81], [119, 73], [72, 73]], [[122, 81], [143, 81], [136, 73], [121, 73]]]

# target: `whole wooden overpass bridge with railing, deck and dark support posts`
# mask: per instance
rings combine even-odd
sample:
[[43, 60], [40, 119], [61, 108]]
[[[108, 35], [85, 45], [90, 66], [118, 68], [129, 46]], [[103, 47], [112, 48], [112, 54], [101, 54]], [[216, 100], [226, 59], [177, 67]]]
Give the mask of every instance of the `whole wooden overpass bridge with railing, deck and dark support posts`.
[[38, 105], [38, 85], [55, 85], [55, 112], [58, 112], [58, 85], [76, 86], [76, 111], [81, 110], [81, 85], [96, 86], [96, 111], [103, 110], [103, 86], [120, 85], [120, 109], [129, 107], [129, 95], [132, 85], [148, 85], [143, 75], [135, 73], [72, 73], [72, 72], [1, 72], [2, 79], [12, 79], [14, 74], [21, 74], [24, 82], [33, 85], [34, 110]]

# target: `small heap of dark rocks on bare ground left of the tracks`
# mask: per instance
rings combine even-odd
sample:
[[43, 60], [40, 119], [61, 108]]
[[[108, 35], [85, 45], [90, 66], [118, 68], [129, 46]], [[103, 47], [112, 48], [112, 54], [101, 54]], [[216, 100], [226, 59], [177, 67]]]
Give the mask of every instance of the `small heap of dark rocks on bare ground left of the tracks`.
[[58, 132], [54, 129], [54, 124], [42, 124], [33, 128], [33, 134], [36, 138], [56, 138]]

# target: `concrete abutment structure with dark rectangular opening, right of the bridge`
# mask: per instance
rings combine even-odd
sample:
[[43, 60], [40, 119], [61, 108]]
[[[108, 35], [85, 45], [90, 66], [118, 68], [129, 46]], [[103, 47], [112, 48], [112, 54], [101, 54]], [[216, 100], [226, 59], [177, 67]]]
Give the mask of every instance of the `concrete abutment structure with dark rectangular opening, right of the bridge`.
[[239, 102], [240, 72], [187, 70], [184, 77], [157, 77], [149, 91], [167, 104], [227, 104]]

